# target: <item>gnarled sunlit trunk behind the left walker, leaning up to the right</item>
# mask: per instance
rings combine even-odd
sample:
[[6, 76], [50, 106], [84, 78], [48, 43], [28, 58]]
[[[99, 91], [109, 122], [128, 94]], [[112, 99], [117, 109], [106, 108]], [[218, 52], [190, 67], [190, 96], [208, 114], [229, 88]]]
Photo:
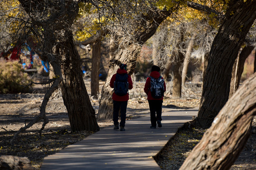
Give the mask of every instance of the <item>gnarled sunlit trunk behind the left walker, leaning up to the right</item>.
[[[110, 60], [110, 68], [106, 77], [106, 82], [102, 88], [100, 106], [98, 111], [98, 119], [112, 119], [113, 118], [113, 101], [112, 91], [109, 87], [110, 79], [116, 73], [119, 64], [127, 64], [128, 74], [132, 75], [136, 66], [137, 57], [141, 51], [141, 45], [144, 44], [155, 33], [159, 24], [171, 14], [170, 11], [158, 11], [156, 8], [149, 10], [147, 15], [143, 15], [132, 33], [133, 39], [128, 36], [126, 42], [118, 47], [116, 45], [112, 48], [111, 53], [113, 57]], [[120, 40], [119, 40], [120, 41]], [[116, 40], [116, 42], [119, 42]], [[122, 41], [122, 40], [121, 40]], [[114, 44], [114, 43], [113, 43]]]

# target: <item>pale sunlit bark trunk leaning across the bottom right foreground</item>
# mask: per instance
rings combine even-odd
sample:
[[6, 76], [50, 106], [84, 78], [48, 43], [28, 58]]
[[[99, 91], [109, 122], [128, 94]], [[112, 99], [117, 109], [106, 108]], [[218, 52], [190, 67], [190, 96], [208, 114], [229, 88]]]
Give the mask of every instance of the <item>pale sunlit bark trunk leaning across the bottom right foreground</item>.
[[250, 136], [256, 115], [256, 73], [228, 100], [180, 170], [228, 170]]

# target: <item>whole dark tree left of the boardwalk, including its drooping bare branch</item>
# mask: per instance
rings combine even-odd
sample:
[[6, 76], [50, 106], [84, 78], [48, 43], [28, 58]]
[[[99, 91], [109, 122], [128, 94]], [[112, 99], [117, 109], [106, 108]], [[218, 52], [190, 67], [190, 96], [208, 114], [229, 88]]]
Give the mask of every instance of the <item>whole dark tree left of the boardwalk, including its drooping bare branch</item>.
[[[12, 2], [5, 1], [10, 5], [13, 5]], [[54, 81], [54, 86], [45, 95], [40, 108], [40, 115], [35, 120], [43, 119], [43, 127], [47, 123], [47, 118], [45, 118], [46, 104], [50, 94], [60, 86], [71, 130], [73, 132], [98, 131], [99, 126], [96, 122], [95, 110], [86, 92], [80, 68], [80, 57], [73, 40], [72, 25], [76, 21], [79, 11], [78, 2], [74, 0], [19, 0], [14, 2], [16, 8], [21, 7], [18, 10], [19, 13], [21, 11], [26, 12], [25, 17], [18, 19], [17, 27], [21, 30], [19, 34], [22, 34], [21, 37], [23, 37], [19, 40], [26, 41], [26, 37], [28, 40], [28, 35], [36, 40], [36, 45], [29, 44], [31, 41], [27, 41], [28, 45], [40, 54], [42, 60], [49, 61], [55, 73], [55, 79], [51, 80], [51, 82]], [[4, 19], [10, 18], [12, 16]], [[18, 33], [15, 32], [15, 29], [12, 31], [14, 34]], [[31, 121], [29, 126], [32, 126], [33, 122]], [[19, 132], [26, 128], [28, 126], [21, 128]]]

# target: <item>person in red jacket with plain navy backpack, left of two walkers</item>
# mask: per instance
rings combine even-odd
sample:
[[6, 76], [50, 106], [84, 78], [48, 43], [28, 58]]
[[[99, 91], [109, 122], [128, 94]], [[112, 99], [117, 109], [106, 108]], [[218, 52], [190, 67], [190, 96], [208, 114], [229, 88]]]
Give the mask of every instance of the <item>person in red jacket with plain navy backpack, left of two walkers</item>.
[[[126, 64], [121, 64], [120, 68], [116, 71], [116, 74], [114, 74], [110, 80], [110, 87], [114, 88], [114, 82], [116, 81], [116, 77], [120, 76], [126, 76], [127, 80], [125, 83], [129, 83], [128, 89], [131, 90], [133, 88], [133, 81], [131, 76], [127, 74], [127, 66]], [[121, 122], [120, 122], [120, 131], [124, 131], [125, 128], [125, 119], [126, 119], [126, 109], [127, 109], [127, 103], [129, 100], [129, 93], [127, 93], [120, 96], [117, 95], [115, 92], [112, 94], [112, 99], [114, 103], [114, 111], [113, 111], [113, 121], [114, 121], [114, 129], [119, 129], [119, 122], [118, 122], [118, 115], [119, 115], [119, 110], [121, 112]]]

